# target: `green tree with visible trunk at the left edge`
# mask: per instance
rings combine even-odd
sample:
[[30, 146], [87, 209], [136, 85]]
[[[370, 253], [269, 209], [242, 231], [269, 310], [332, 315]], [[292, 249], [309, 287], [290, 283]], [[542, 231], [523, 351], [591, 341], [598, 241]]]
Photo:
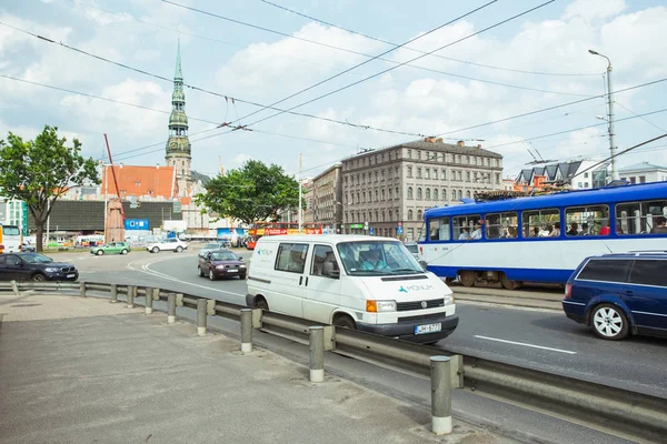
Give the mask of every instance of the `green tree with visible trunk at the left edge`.
[[81, 142], [58, 138], [58, 128], [46, 125], [34, 140], [11, 132], [0, 140], [0, 193], [26, 202], [37, 228], [37, 251], [42, 251], [44, 224], [53, 203], [70, 189], [100, 183], [96, 163], [81, 155]]

